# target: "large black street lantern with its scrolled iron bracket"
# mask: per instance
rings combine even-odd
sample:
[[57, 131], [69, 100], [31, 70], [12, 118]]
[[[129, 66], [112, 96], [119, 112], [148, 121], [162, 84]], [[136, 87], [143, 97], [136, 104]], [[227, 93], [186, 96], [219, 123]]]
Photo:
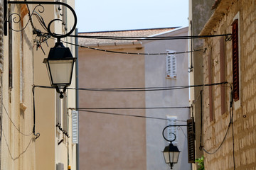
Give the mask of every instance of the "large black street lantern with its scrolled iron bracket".
[[[70, 11], [73, 13], [74, 25], [73, 25], [73, 28], [71, 28], [68, 33], [65, 33], [64, 35], [60, 35], [60, 34], [51, 32], [50, 26], [52, 23], [54, 23], [55, 21], [61, 21], [63, 23], [63, 21], [59, 18], [53, 19], [52, 21], [50, 21], [46, 28], [48, 31], [48, 33], [46, 33], [46, 35], [48, 35], [49, 37], [51, 36], [53, 38], [56, 38], [57, 42], [55, 43], [54, 47], [50, 48], [48, 58], [45, 58], [43, 60], [43, 63], [46, 64], [46, 67], [48, 70], [50, 85], [53, 86], [56, 89], [56, 91], [60, 94], [60, 98], [63, 98], [63, 94], [65, 93], [67, 86], [70, 86], [70, 84], [71, 84], [72, 75], [73, 75], [73, 67], [74, 67], [76, 58], [74, 58], [72, 56], [70, 49], [68, 47], [64, 47], [63, 43], [60, 42], [60, 38], [67, 37], [68, 35], [73, 33], [73, 31], [75, 30], [75, 27], [76, 27], [77, 21], [78, 21], [75, 10], [70, 5], [65, 4], [63, 2], [59, 2], [59, 1], [7, 1], [7, 0], [4, 0], [4, 18], [8, 18], [7, 11], [6, 11], [8, 4], [36, 5], [33, 12], [30, 14], [30, 20], [31, 20], [31, 16], [34, 13], [36, 13], [36, 11], [35, 11], [36, 8], [39, 8], [40, 6], [41, 6], [41, 8], [43, 8], [42, 4], [65, 6], [65, 7], [69, 8]], [[43, 10], [38, 10], [38, 13], [43, 13], [43, 11], [44, 11], [44, 8], [43, 8]], [[14, 14], [17, 15], [18, 18], [21, 18], [21, 16], [19, 16], [17, 13], [13, 13], [11, 15], [14, 15]], [[20, 19], [20, 21], [21, 21], [21, 19]], [[16, 22], [16, 23], [18, 23], [18, 22]], [[32, 21], [31, 21], [31, 23], [32, 23]], [[39, 35], [41, 34], [40, 30], [33, 30], [33, 32], [38, 33]], [[7, 20], [4, 21], [4, 35], [7, 35]], [[63, 91], [60, 91], [60, 89], [63, 89]]]

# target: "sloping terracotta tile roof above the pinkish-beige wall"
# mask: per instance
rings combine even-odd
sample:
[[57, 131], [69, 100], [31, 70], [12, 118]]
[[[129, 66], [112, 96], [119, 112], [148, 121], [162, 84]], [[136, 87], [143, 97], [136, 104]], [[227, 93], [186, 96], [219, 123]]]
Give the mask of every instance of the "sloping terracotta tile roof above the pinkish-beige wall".
[[[122, 37], [149, 37], [159, 33], [165, 33], [174, 30], [176, 27], [171, 28], [152, 28], [141, 30], [116, 30], [116, 31], [103, 31], [103, 32], [88, 32], [78, 33], [78, 35], [87, 36], [122, 36]], [[92, 39], [92, 38], [78, 38], [79, 45], [95, 45], [95, 44], [108, 44], [108, 43], [125, 43], [136, 42], [137, 40], [106, 40], [106, 39]]]

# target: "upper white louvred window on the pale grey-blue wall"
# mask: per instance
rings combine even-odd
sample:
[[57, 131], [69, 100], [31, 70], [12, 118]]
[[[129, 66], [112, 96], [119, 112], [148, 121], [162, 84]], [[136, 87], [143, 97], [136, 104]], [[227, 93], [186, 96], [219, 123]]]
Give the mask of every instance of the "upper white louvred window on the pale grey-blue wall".
[[176, 79], [177, 75], [177, 64], [176, 64], [176, 55], [174, 51], [167, 50], [166, 53], [166, 77], [171, 79]]

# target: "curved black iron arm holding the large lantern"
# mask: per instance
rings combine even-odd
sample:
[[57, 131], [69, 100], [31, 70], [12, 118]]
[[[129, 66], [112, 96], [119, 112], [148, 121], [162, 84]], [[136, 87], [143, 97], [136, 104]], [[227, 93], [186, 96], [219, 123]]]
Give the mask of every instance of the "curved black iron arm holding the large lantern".
[[[73, 28], [66, 34], [64, 35], [59, 35], [59, 34], [55, 34], [52, 33], [50, 31], [50, 25], [54, 22], [54, 21], [61, 21], [60, 19], [53, 19], [52, 21], [50, 21], [50, 23], [48, 24], [47, 30], [49, 35], [51, 35], [54, 38], [65, 38], [68, 35], [70, 35], [71, 33], [73, 33], [73, 31], [76, 28], [76, 25], [78, 23], [78, 17], [76, 16], [75, 10], [68, 4], [65, 4], [63, 2], [58, 2], [58, 1], [6, 1], [4, 0], [4, 8], [7, 8], [7, 4], [37, 4], [37, 5], [41, 5], [41, 4], [46, 4], [46, 5], [62, 5], [62, 6], [66, 6], [67, 8], [70, 9], [70, 11], [73, 13], [74, 16], [74, 25]], [[7, 12], [6, 10], [4, 11], [4, 18], [6, 18]], [[4, 21], [4, 24], [6, 25], [7, 21]], [[6, 28], [5, 28], [6, 29]]]

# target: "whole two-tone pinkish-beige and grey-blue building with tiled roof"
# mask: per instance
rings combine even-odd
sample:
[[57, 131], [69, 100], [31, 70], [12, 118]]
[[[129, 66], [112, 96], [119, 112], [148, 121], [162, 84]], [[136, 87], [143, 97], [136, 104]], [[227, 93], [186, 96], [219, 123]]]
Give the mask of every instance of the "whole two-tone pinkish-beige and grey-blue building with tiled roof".
[[[157, 38], [188, 35], [188, 28], [79, 35]], [[183, 123], [178, 120], [186, 122], [189, 109], [171, 111], [142, 108], [188, 106], [188, 89], [175, 92], [129, 89], [188, 85], [188, 55], [174, 55], [174, 52], [188, 50], [188, 41], [79, 38], [79, 44], [79, 87], [85, 89], [79, 92], [80, 169], [169, 169], [161, 153], [169, 145], [161, 135], [162, 130], [170, 123]], [[165, 55], [145, 55], [159, 52], [164, 52]], [[172, 72], [173, 67], [171, 68], [171, 59], [174, 58], [177, 72]], [[169, 66], [166, 66], [167, 60]], [[129, 89], [107, 90], [119, 88]], [[177, 131], [176, 145], [182, 151], [174, 169], [190, 169], [186, 135], [183, 134], [186, 134], [186, 128], [182, 129], [183, 132], [181, 128], [170, 130], [169, 132]]]

